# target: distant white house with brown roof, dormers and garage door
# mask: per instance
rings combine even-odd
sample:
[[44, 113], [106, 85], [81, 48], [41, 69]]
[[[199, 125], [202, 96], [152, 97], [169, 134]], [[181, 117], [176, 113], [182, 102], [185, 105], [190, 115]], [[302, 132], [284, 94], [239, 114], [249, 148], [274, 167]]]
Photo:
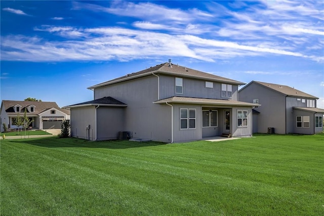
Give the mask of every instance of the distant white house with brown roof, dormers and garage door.
[[14, 120], [18, 114], [24, 117], [25, 110], [27, 110], [27, 117], [33, 120], [29, 127], [35, 129], [60, 129], [62, 121], [70, 119], [70, 111], [60, 109], [56, 102], [3, 100], [1, 131], [4, 131], [3, 123], [8, 128], [17, 128]]

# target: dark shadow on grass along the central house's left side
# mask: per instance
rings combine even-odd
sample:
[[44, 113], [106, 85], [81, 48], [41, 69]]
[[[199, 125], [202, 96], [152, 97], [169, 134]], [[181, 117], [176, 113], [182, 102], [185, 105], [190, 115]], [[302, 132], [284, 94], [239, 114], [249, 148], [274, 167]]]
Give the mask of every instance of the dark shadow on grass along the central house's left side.
[[106, 140], [106, 141], [88, 141], [78, 138], [29, 138], [29, 139], [8, 139], [6, 142], [23, 143], [44, 148], [100, 148], [100, 149], [130, 149], [151, 146], [166, 145], [165, 142], [145, 141], [135, 142], [129, 140]]

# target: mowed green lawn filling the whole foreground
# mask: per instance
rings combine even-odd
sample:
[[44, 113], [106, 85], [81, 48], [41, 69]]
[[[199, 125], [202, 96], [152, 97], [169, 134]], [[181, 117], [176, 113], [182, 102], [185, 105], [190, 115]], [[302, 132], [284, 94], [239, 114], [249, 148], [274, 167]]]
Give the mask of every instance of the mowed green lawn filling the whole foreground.
[[324, 135], [1, 140], [2, 215], [324, 215]]

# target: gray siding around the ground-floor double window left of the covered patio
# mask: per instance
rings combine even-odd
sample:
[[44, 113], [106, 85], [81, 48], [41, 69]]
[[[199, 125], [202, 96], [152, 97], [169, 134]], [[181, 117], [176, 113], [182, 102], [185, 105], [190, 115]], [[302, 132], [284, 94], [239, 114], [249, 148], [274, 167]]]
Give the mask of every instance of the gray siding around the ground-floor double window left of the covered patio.
[[[196, 127], [195, 129], [180, 129], [180, 109], [195, 109], [196, 110]], [[174, 104], [173, 105], [173, 138], [174, 142], [199, 140], [201, 136], [201, 106], [189, 104]]]

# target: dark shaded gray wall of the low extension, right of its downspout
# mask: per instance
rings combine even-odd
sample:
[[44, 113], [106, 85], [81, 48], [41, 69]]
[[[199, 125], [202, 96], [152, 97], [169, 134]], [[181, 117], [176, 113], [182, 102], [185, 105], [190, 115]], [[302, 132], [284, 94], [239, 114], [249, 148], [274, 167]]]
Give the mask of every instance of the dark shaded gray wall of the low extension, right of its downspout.
[[98, 107], [97, 140], [117, 139], [125, 128], [126, 107]]

